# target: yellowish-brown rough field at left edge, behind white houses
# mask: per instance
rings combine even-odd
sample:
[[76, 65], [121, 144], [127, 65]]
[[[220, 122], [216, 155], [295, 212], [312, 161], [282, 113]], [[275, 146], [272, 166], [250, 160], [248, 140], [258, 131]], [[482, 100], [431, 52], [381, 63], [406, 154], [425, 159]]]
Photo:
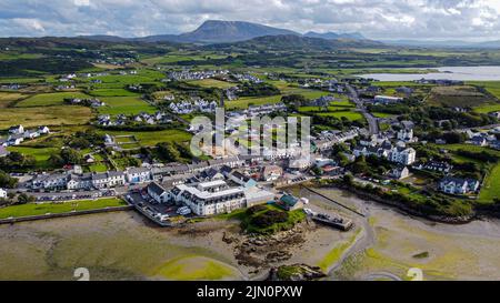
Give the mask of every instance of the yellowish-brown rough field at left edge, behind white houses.
[[92, 117], [89, 108], [74, 105], [8, 108], [2, 109], [1, 112], [0, 129], [8, 129], [16, 124], [22, 124], [24, 128], [86, 124]]

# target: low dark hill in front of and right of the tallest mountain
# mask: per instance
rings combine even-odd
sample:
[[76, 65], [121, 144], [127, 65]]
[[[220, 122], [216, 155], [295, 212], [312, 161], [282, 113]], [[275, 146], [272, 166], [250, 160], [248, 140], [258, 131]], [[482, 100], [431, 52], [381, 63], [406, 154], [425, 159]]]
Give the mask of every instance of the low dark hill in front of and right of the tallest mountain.
[[297, 34], [280, 34], [258, 37], [247, 41], [208, 46], [210, 49], [252, 49], [252, 50], [313, 50], [328, 51], [341, 48], [383, 47], [382, 43], [370, 40], [310, 38]]

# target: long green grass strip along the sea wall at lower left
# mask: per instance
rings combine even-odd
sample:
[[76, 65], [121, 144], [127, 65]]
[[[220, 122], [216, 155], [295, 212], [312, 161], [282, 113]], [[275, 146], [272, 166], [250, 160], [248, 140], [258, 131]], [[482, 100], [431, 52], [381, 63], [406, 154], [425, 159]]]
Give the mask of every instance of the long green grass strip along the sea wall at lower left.
[[59, 203], [50, 203], [50, 202], [40, 204], [28, 203], [0, 209], [0, 219], [6, 219], [10, 216], [21, 218], [30, 215], [40, 215], [46, 213], [66, 213], [71, 212], [73, 210], [87, 211], [123, 205], [127, 205], [127, 202], [118, 198], [70, 201]]

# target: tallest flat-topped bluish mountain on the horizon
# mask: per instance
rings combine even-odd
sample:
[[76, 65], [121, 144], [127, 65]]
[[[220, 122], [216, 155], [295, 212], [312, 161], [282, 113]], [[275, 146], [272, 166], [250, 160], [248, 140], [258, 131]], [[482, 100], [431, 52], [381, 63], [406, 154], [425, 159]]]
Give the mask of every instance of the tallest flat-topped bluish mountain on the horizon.
[[198, 29], [181, 34], [160, 34], [139, 38], [148, 42], [190, 42], [190, 43], [224, 43], [250, 40], [263, 36], [297, 34], [291, 30], [278, 29], [268, 26], [243, 21], [208, 20]]

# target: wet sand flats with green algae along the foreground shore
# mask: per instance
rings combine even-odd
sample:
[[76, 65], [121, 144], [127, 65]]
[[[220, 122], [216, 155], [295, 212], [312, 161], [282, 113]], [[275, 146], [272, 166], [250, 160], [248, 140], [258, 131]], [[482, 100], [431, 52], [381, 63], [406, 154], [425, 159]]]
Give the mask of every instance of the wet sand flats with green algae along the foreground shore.
[[[420, 267], [426, 280], [500, 279], [500, 222], [447, 225], [410, 218], [333, 189], [320, 191], [366, 213], [360, 218], [300, 189], [311, 208], [341, 213], [356, 228], [342, 233], [311, 223], [290, 257], [259, 267], [239, 264], [237, 222], [203, 221], [162, 229], [130, 212], [0, 225], [0, 280], [76, 280], [88, 267], [91, 280], [257, 280], [270, 266], [320, 265], [328, 280], [406, 279]], [[307, 224], [307, 223], [306, 223]], [[193, 266], [196, 264], [196, 266]]]

